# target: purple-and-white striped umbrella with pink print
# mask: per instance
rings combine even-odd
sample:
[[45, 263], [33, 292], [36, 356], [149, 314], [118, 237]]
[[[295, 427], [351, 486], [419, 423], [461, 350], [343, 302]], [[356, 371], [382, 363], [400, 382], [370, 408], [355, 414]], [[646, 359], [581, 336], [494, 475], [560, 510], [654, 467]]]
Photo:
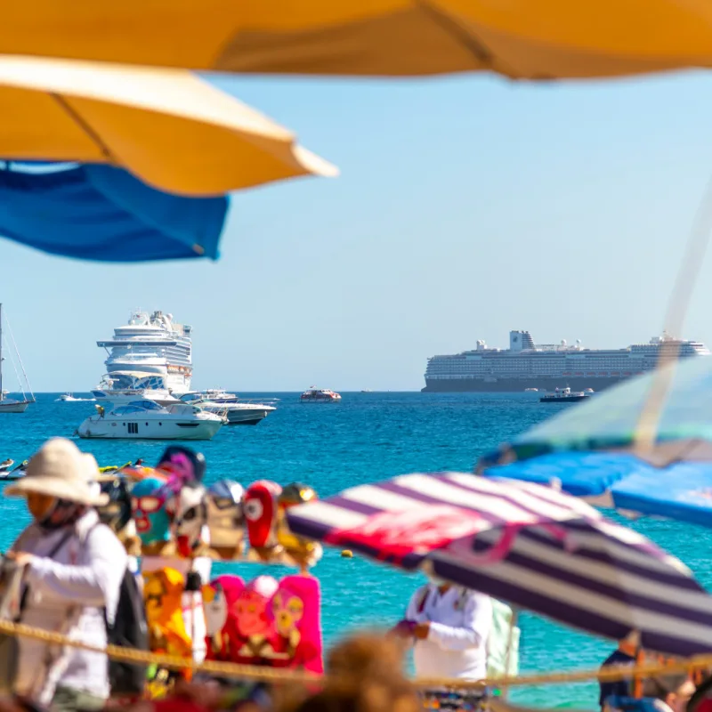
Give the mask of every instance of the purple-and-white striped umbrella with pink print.
[[406, 474], [287, 510], [295, 534], [422, 568], [571, 627], [712, 651], [712, 596], [682, 562], [569, 495], [466, 473]]

